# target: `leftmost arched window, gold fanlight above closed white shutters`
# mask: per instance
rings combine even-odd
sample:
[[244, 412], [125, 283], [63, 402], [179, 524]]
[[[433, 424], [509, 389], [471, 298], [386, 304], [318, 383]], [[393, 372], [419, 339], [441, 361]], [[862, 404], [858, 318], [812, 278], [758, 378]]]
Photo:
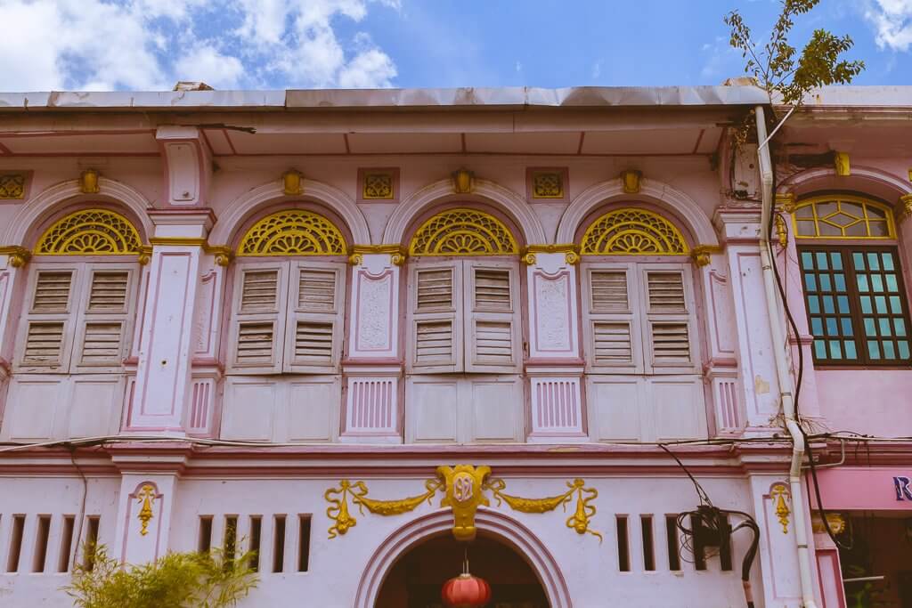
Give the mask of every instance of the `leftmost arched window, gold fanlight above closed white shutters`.
[[18, 369], [121, 371], [136, 314], [140, 251], [140, 233], [109, 209], [75, 211], [48, 227], [29, 266]]

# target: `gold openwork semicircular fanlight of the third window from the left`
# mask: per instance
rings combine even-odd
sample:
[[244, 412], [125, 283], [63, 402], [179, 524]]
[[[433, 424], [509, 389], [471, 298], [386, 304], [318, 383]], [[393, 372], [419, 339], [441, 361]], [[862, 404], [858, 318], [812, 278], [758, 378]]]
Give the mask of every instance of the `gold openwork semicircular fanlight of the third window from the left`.
[[506, 255], [519, 253], [503, 222], [483, 211], [451, 209], [421, 224], [410, 255]]

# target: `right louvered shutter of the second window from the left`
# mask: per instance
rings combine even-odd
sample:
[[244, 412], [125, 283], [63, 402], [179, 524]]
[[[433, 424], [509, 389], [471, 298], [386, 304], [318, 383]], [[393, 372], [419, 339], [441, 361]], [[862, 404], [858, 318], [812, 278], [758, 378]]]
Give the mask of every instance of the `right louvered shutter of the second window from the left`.
[[285, 326], [286, 372], [335, 373], [342, 347], [346, 265], [294, 262]]

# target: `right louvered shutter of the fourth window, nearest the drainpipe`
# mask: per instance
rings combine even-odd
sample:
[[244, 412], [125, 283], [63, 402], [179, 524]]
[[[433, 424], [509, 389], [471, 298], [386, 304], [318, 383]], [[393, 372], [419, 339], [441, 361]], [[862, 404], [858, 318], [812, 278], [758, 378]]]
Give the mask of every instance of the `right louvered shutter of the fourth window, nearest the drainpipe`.
[[644, 341], [653, 372], [690, 373], [696, 366], [692, 288], [688, 267], [643, 264], [641, 278], [647, 318]]

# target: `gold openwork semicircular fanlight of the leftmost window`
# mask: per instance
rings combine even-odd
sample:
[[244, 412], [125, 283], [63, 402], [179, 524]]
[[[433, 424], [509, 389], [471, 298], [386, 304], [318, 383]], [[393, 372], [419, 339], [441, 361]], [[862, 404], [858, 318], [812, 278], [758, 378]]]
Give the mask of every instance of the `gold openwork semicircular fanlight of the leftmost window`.
[[38, 239], [36, 255], [123, 255], [140, 253], [140, 232], [107, 209], [83, 209], [54, 222]]

